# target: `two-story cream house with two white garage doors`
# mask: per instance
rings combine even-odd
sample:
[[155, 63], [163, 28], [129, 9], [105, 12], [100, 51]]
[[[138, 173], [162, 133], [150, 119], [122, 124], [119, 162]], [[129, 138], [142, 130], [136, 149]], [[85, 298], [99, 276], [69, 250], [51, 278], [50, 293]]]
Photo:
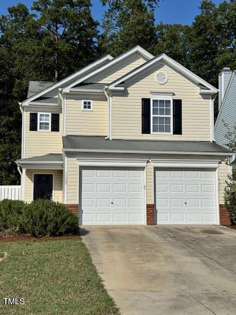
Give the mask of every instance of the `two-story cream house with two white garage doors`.
[[57, 82], [30, 82], [22, 198], [52, 198], [80, 224], [226, 224], [233, 153], [213, 142], [218, 90], [137, 46]]

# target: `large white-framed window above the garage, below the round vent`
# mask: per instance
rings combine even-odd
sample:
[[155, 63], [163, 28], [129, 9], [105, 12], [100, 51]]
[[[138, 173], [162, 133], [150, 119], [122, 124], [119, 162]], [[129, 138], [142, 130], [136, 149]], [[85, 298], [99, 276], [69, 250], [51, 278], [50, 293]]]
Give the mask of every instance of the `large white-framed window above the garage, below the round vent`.
[[173, 133], [173, 99], [158, 95], [151, 99], [151, 133]]

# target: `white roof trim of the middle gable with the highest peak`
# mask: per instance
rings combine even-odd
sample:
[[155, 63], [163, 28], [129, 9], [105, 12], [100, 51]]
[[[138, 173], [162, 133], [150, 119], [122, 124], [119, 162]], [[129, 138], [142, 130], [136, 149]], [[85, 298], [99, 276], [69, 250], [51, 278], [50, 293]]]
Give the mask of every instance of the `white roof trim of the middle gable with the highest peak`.
[[[83, 76], [82, 78], [78, 79], [77, 81], [74, 81], [73, 83], [69, 84], [67, 87], [62, 89], [63, 93], [69, 92], [70, 89], [74, 86], [77, 85], [87, 79], [89, 79], [91, 76], [95, 75], [96, 73], [99, 73], [103, 70], [105, 70], [106, 68], [110, 67], [111, 65], [113, 65], [114, 63], [118, 63], [119, 61], [121, 61], [122, 59], [134, 54], [134, 53], [140, 53], [142, 56], [144, 56], [145, 58], [151, 60], [154, 58], [153, 55], [151, 55], [150, 53], [148, 53], [145, 49], [143, 49], [140, 46], [136, 46], [130, 50], [128, 50], [127, 52], [121, 54], [120, 56], [118, 56], [117, 58], [113, 59], [112, 61], [110, 61], [109, 63], [104, 64], [103, 66], [101, 66], [99, 69], [96, 69], [94, 71], [92, 71], [91, 73]], [[116, 88], [116, 90], [124, 90], [124, 88]]]

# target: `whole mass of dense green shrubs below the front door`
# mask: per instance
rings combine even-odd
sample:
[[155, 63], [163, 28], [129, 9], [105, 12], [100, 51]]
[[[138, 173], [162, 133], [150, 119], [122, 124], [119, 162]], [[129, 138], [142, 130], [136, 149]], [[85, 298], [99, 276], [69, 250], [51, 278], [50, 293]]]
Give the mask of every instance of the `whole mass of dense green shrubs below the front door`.
[[0, 232], [34, 237], [78, 234], [78, 218], [64, 204], [38, 199], [27, 204], [20, 200], [0, 201]]

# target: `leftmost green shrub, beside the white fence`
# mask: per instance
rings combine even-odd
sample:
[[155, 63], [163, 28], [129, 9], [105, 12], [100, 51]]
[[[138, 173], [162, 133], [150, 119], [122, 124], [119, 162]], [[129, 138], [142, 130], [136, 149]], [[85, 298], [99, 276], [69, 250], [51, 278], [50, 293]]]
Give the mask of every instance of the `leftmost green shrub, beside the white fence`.
[[0, 201], [0, 232], [4, 234], [25, 233], [23, 213], [27, 204], [21, 200]]

